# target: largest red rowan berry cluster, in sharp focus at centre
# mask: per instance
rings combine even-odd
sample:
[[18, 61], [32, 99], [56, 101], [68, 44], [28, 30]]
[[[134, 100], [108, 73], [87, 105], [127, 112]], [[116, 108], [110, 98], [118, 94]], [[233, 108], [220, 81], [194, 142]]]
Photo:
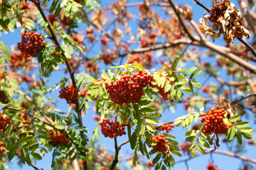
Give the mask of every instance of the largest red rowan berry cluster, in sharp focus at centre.
[[[153, 76], [147, 71], [139, 70], [134, 73], [121, 74], [116, 82], [105, 82], [111, 101], [122, 105], [123, 103], [137, 103], [143, 96], [145, 88], [153, 79]], [[131, 80], [131, 81], [130, 81]]]

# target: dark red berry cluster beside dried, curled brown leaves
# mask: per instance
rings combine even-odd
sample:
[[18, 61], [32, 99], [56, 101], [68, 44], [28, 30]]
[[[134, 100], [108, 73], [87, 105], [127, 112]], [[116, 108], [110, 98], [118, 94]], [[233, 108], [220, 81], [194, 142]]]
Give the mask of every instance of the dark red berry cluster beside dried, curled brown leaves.
[[210, 12], [210, 16], [208, 19], [212, 23], [216, 23], [218, 26], [220, 26], [220, 22], [217, 20], [221, 17], [224, 16], [224, 12], [227, 10], [227, 4], [224, 2], [219, 3], [218, 5], [215, 5], [212, 7], [212, 10]]

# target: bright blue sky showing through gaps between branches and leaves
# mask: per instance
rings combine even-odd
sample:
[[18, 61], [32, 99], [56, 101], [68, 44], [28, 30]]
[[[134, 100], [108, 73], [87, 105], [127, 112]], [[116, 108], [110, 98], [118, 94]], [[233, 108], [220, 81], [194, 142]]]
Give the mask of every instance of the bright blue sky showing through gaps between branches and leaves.
[[[112, 0], [102, 0], [102, 6], [105, 6], [106, 4], [110, 4], [112, 2]], [[193, 0], [182, 0], [182, 1], [178, 1], [178, 0], [174, 0], [175, 3], [187, 3], [188, 5], [192, 6], [192, 11], [194, 13], [194, 20], [197, 22], [199, 20], [200, 17], [203, 16], [204, 14], [204, 9], [201, 8], [200, 6], [197, 6], [195, 3], [193, 3]], [[135, 3], [135, 2], [143, 2], [142, 0], [137, 1], [137, 0], [128, 0], [128, 3]], [[201, 3], [203, 3], [206, 6], [211, 5], [211, 0], [201, 0]], [[238, 5], [236, 4], [236, 6], [238, 7]], [[161, 10], [160, 7], [155, 7], [154, 8], [157, 12], [159, 12], [160, 14], [163, 14], [163, 11]], [[137, 14], [137, 7], [130, 7], [129, 11], [133, 14]], [[137, 30], [137, 22], [129, 22], [129, 26], [132, 27], [132, 32], [136, 32]], [[86, 26], [80, 26], [79, 30], [85, 30]], [[3, 41], [7, 46], [11, 46], [16, 44], [17, 42], [20, 41], [21, 35], [19, 32], [19, 29], [15, 31], [15, 33], [11, 33], [9, 32], [9, 34], [5, 35], [2, 34], [2, 36], [0, 37], [0, 41]], [[222, 39], [217, 39], [216, 44], [219, 45], [223, 45]], [[100, 48], [100, 43], [98, 42], [97, 45], [95, 46], [95, 50], [97, 48]], [[131, 46], [131, 48], [136, 48], [137, 46]], [[90, 57], [93, 57], [95, 54], [90, 53]], [[212, 62], [212, 60], [209, 59], [205, 59], [205, 61], [209, 61]], [[117, 61], [117, 63], [119, 63], [119, 61]], [[123, 63], [122, 63], [123, 64]], [[101, 69], [105, 69], [105, 67], [103, 65], [100, 65]], [[187, 68], [192, 67], [194, 65], [192, 65], [192, 63], [189, 62], [189, 65], [187, 66]], [[50, 77], [48, 80], [48, 85], [54, 85], [57, 82], [60, 82], [60, 80], [62, 79], [62, 77], [67, 77], [69, 78], [69, 75], [65, 74], [62, 71], [55, 71], [52, 74], [52, 77]], [[39, 78], [39, 77], [38, 77]], [[203, 82], [205, 79], [205, 77], [199, 76], [197, 81], [198, 82]], [[208, 83], [211, 82], [215, 82], [215, 79], [211, 78], [209, 79]], [[53, 91], [50, 96], [52, 97], [52, 99], [55, 100], [59, 100], [59, 103], [57, 105], [57, 108], [61, 109], [61, 111], [67, 111], [68, 105], [66, 104], [64, 99], [59, 99], [58, 98], [58, 90]], [[189, 96], [189, 95], [188, 95]], [[93, 105], [91, 105], [92, 108]], [[208, 107], [205, 107], [206, 109], [209, 109], [211, 107], [213, 107], [213, 105], [207, 105]], [[174, 120], [175, 118], [182, 116], [184, 114], [186, 114], [187, 111], [183, 110], [183, 105], [182, 104], [177, 104], [177, 109], [175, 111], [175, 113], [172, 113], [171, 111], [165, 111], [163, 118], [161, 119], [163, 122], [171, 122], [172, 120]], [[92, 131], [94, 130], [95, 126], [96, 126], [96, 122], [92, 121], [92, 116], [94, 116], [95, 113], [93, 110], [87, 111], [86, 115], [83, 117], [83, 124], [84, 126], [88, 127], [88, 130], [90, 131], [90, 133], [88, 134], [89, 138], [91, 138], [92, 136]], [[255, 125], [253, 125], [253, 121], [250, 121], [250, 126], [251, 127], [255, 127]], [[170, 132], [170, 134], [172, 134], [173, 136], [176, 136], [177, 138], [177, 142], [179, 142], [180, 144], [183, 143], [184, 139], [186, 138], [183, 134], [186, 132], [186, 129], [182, 129], [181, 127], [175, 127], [174, 130], [172, 130]], [[117, 139], [118, 143], [124, 142], [125, 140], [128, 139], [128, 136], [122, 136], [119, 137]], [[113, 139], [109, 139], [109, 138], [105, 138], [104, 136], [100, 136], [100, 140], [103, 141], [104, 143], [100, 143], [100, 144], [104, 144], [105, 147], [107, 147], [110, 150], [114, 150], [114, 143], [113, 143]], [[126, 144], [124, 146], [122, 146], [121, 150], [125, 150], [128, 151], [129, 153], [133, 153], [133, 151], [130, 148], [129, 144]], [[221, 143], [221, 147], [219, 147], [219, 150], [227, 150], [226, 144]], [[256, 148], [252, 147], [252, 146], [248, 146], [246, 147], [247, 153], [244, 154], [244, 156], [251, 158], [251, 159], [255, 159], [255, 152], [256, 152]], [[122, 154], [120, 154], [122, 156]], [[130, 156], [129, 154], [125, 154], [123, 155], [123, 157], [127, 157]], [[216, 165], [220, 166], [220, 170], [236, 170], [238, 169], [238, 167], [242, 164], [242, 161], [239, 159], [235, 159], [235, 158], [231, 158], [228, 156], [222, 156], [219, 155], [217, 153], [213, 153], [212, 157], [214, 159], [214, 163]], [[154, 158], [154, 157], [153, 157]], [[181, 158], [175, 156], [175, 160], [181, 160], [181, 159], [186, 159], [187, 156], [183, 156]], [[51, 153], [49, 153], [47, 156], [44, 156], [43, 159], [41, 161], [38, 161], [36, 163], [36, 166], [39, 168], [42, 168], [44, 170], [49, 170], [51, 169]], [[146, 159], [146, 158], [144, 158]], [[206, 164], [208, 163], [210, 159], [210, 155], [206, 155], [206, 156], [200, 156], [198, 158], [195, 158], [193, 160], [188, 161], [189, 167], [192, 168], [192, 170], [206, 170]], [[17, 160], [13, 160], [12, 161], [12, 165], [10, 166], [11, 170], [17, 170], [20, 169], [20, 167], [17, 167], [16, 164]], [[22, 170], [32, 170], [32, 167], [28, 167], [27, 165], [23, 166]], [[175, 167], [173, 168], [173, 170], [186, 170], [186, 166], [184, 163], [180, 163], [180, 164], [176, 164]]]

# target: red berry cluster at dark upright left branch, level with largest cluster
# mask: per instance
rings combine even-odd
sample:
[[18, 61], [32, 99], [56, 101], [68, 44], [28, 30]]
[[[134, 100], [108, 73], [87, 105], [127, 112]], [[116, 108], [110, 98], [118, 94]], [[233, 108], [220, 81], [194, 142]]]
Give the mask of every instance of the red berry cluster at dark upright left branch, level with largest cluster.
[[68, 104], [76, 103], [78, 100], [78, 90], [73, 85], [67, 85], [61, 89], [58, 95], [61, 99], [66, 99]]

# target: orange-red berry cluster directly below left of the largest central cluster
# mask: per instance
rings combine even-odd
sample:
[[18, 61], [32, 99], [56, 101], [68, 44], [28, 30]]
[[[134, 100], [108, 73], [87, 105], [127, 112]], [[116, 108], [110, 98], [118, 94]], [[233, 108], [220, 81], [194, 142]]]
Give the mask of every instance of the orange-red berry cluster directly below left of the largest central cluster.
[[99, 125], [101, 126], [101, 132], [105, 137], [110, 137], [112, 139], [117, 136], [126, 135], [125, 126], [127, 126], [127, 123], [122, 125], [118, 121], [113, 122], [113, 120], [110, 121], [106, 118], [103, 119], [102, 122], [99, 122]]

